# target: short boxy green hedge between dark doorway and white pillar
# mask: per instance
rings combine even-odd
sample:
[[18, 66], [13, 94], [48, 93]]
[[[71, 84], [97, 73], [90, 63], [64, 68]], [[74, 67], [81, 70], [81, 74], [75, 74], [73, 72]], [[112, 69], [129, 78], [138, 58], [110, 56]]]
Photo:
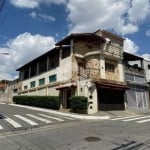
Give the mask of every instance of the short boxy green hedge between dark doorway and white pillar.
[[70, 98], [70, 107], [74, 112], [87, 112], [87, 97], [73, 96]]

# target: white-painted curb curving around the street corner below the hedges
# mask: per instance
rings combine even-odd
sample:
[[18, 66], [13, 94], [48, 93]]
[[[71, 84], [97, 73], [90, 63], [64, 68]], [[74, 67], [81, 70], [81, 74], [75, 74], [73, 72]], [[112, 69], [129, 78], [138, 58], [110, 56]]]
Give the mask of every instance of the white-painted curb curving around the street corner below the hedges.
[[72, 117], [72, 118], [81, 119], [81, 120], [108, 120], [108, 119], [110, 119], [110, 116], [92, 116], [92, 115], [89, 116], [89, 115], [65, 113], [65, 112], [49, 110], [49, 109], [44, 109], [44, 108], [38, 108], [38, 107], [36, 108], [36, 107], [32, 107], [32, 106], [24, 106], [24, 105], [17, 105], [17, 104], [8, 104], [8, 105], [27, 108], [27, 109], [31, 109], [31, 110], [42, 111], [42, 112], [48, 112], [48, 113], [57, 114], [57, 115], [63, 115], [63, 116]]

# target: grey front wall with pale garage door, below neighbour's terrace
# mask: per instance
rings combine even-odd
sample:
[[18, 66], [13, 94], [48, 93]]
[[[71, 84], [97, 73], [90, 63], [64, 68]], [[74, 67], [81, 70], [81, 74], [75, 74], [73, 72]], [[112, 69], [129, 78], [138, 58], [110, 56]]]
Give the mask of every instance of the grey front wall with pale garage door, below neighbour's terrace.
[[[144, 72], [137, 73], [125, 70], [125, 80], [129, 89], [126, 90], [126, 100], [128, 108], [148, 108], [149, 94]], [[141, 75], [140, 75], [141, 74]]]

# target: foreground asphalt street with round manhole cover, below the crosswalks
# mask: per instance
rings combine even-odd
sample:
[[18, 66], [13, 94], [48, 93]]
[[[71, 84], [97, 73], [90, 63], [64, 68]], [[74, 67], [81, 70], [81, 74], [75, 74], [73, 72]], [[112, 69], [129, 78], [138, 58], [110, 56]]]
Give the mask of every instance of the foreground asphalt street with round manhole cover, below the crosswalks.
[[6, 134], [0, 150], [148, 150], [150, 123], [82, 121]]

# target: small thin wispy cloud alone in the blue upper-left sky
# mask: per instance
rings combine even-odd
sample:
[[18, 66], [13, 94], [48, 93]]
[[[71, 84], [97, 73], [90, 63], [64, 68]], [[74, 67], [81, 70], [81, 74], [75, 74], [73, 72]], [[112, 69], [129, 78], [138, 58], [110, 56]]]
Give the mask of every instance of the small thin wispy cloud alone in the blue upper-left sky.
[[56, 20], [53, 16], [42, 14], [42, 13], [36, 13], [35, 11], [30, 13], [29, 16], [34, 19], [43, 20], [45, 22], [47, 22], [47, 21], [54, 22]]

